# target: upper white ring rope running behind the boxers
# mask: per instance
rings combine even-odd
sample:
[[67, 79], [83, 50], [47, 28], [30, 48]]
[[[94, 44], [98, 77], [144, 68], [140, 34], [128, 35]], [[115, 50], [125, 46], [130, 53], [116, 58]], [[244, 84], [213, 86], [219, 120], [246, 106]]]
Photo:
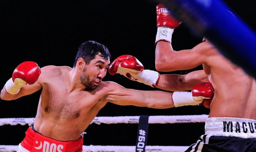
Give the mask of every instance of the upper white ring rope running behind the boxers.
[[[176, 116], [149, 116], [149, 124], [175, 124], [175, 123], [204, 123], [208, 115], [176, 115]], [[34, 118], [0, 118], [0, 126], [3, 125], [26, 125], [34, 122]], [[118, 116], [118, 117], [95, 117], [91, 122], [100, 125], [104, 124], [138, 124], [139, 116]]]

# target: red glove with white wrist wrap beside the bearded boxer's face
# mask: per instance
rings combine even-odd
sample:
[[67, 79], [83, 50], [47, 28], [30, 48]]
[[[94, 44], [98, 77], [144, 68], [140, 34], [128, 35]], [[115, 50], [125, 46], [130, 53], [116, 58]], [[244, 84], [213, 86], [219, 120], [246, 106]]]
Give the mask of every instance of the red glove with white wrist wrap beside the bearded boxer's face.
[[115, 59], [109, 66], [110, 75], [120, 74], [131, 80], [155, 87], [159, 79], [158, 72], [144, 70], [141, 62], [131, 55], [122, 55]]

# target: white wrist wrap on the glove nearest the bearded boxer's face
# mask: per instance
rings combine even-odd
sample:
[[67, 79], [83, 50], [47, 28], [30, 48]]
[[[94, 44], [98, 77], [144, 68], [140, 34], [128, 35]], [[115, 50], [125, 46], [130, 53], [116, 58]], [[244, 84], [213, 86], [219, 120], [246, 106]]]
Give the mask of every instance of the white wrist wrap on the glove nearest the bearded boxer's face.
[[138, 82], [155, 87], [159, 79], [159, 73], [152, 70], [143, 70], [138, 78]]

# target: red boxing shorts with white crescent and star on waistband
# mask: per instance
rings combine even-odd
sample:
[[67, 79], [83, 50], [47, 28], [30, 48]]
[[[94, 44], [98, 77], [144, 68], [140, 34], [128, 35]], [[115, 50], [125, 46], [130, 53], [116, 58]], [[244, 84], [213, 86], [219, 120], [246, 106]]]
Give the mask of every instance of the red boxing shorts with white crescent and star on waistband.
[[28, 127], [24, 140], [19, 144], [19, 152], [81, 152], [83, 136], [74, 141], [61, 142], [35, 132]]

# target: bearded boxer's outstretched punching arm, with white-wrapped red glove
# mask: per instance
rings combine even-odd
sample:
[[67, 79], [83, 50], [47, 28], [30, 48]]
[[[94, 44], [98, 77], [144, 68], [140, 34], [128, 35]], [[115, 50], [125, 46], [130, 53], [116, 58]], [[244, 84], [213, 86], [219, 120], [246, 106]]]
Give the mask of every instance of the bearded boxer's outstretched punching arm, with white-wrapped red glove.
[[[186, 105], [198, 105], [213, 96], [212, 87], [194, 87], [192, 92], [142, 91], [126, 89], [115, 82], [107, 82], [108, 95], [103, 100], [122, 105], [166, 109]], [[205, 82], [209, 83], [209, 82]], [[211, 85], [211, 84], [210, 84]], [[199, 90], [198, 90], [199, 89]], [[195, 91], [193, 94], [193, 90]], [[206, 91], [207, 90], [207, 91]]]

